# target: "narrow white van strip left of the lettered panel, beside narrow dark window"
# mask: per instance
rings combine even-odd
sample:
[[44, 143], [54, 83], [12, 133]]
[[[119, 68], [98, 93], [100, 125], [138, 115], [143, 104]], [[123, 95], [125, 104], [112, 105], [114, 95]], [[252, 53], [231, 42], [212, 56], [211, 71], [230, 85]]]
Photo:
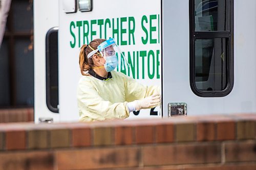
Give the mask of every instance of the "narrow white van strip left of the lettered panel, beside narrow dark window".
[[58, 27], [58, 1], [34, 1], [34, 119], [52, 117], [59, 121], [59, 114], [46, 105], [46, 33]]

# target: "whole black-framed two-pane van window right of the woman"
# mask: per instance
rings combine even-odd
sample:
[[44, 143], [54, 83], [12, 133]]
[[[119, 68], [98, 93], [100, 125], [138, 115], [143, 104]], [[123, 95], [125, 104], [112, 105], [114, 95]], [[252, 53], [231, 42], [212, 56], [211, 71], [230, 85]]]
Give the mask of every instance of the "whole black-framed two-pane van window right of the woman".
[[203, 97], [233, 87], [233, 1], [190, 0], [190, 87]]

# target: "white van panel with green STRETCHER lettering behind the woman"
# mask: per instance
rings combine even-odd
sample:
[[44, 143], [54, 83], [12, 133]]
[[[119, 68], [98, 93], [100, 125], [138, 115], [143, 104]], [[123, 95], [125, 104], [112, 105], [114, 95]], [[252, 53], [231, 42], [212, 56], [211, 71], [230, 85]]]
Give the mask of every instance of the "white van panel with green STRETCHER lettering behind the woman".
[[[145, 4], [147, 6], [142, 10]], [[79, 50], [82, 44], [88, 44], [95, 38], [109, 39], [113, 37], [125, 53], [126, 58], [130, 52], [135, 67], [134, 74], [132, 69], [129, 70], [124, 64], [119, 65], [118, 71], [122, 69], [126, 75], [129, 75], [130, 72], [130, 76], [134, 76], [142, 84], [160, 86], [160, 13], [161, 2], [148, 0], [129, 2], [113, 0], [111, 3], [97, 0], [93, 1], [92, 11], [80, 12], [78, 10], [71, 14], [60, 9], [59, 112], [61, 120], [78, 120], [76, 89], [81, 77], [78, 64]], [[150, 29], [151, 27], [152, 29]], [[113, 34], [113, 28], [117, 30], [118, 34]], [[144, 41], [145, 44], [142, 42], [142, 38], [147, 39]], [[126, 45], [124, 45], [125, 42]], [[154, 54], [151, 54], [150, 51]], [[143, 57], [143, 55], [146, 56]], [[150, 109], [141, 110], [137, 116], [131, 113], [129, 118], [161, 117], [160, 107], [155, 109], [158, 111], [156, 116], [151, 116], [150, 111]]]

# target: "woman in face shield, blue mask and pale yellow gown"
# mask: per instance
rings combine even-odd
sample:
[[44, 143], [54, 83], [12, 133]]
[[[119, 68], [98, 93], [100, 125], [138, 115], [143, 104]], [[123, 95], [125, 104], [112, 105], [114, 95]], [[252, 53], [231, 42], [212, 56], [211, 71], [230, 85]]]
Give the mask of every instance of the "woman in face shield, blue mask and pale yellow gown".
[[113, 38], [95, 39], [81, 47], [82, 77], [77, 88], [81, 122], [123, 119], [132, 111], [160, 105], [159, 86], [144, 86], [114, 71], [118, 65], [116, 53], [122, 54]]

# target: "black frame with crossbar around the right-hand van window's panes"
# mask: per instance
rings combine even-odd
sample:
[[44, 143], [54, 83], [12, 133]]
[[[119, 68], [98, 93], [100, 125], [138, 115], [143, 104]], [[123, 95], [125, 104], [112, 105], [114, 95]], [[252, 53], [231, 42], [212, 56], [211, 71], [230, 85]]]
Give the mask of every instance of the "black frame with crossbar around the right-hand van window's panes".
[[[195, 31], [195, 0], [189, 0], [189, 82], [191, 90], [200, 97], [223, 97], [228, 95], [234, 84], [234, 45], [233, 45], [233, 30], [234, 30], [234, 3], [229, 2], [229, 31]], [[195, 41], [196, 39], [211, 39], [211, 38], [227, 38], [228, 39], [228, 56], [227, 56], [227, 86], [222, 91], [202, 91], [196, 87], [196, 65], [195, 65]]]

